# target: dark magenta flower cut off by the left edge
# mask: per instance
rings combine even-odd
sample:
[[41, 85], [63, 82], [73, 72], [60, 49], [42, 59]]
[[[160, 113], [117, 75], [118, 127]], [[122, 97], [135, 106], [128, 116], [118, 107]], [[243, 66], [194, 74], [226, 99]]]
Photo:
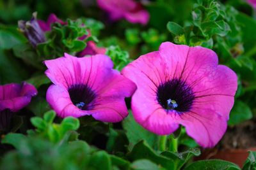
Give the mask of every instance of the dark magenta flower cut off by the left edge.
[[0, 129], [6, 130], [14, 112], [27, 106], [31, 97], [36, 96], [37, 90], [26, 82], [0, 85]]

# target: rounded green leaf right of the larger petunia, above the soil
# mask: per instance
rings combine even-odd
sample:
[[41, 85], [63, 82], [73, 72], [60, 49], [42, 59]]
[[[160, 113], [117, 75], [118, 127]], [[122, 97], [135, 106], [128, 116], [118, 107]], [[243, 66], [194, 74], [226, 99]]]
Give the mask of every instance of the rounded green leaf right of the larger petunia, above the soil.
[[236, 125], [253, 117], [250, 107], [243, 101], [236, 100], [230, 112], [228, 125]]

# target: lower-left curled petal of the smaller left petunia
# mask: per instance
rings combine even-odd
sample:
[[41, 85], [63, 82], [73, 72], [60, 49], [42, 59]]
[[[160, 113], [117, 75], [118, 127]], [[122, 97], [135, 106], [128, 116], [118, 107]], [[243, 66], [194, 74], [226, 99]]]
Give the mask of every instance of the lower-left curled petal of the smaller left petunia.
[[90, 115], [91, 113], [86, 110], [80, 110], [71, 101], [67, 89], [51, 85], [46, 93], [46, 100], [51, 108], [56, 111], [59, 117], [81, 117]]

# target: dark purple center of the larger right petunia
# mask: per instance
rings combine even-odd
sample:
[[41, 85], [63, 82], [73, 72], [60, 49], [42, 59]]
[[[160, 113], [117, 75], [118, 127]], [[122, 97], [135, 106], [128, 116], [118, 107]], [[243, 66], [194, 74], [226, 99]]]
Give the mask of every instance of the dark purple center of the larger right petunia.
[[166, 110], [189, 111], [194, 99], [191, 87], [182, 80], [169, 80], [157, 88], [157, 101]]

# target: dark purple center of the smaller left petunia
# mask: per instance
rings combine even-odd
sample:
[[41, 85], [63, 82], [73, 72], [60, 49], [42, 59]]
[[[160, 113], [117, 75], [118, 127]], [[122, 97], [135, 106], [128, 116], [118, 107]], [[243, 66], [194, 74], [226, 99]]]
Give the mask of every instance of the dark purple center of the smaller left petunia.
[[92, 101], [95, 99], [95, 93], [90, 87], [83, 84], [72, 85], [68, 88], [70, 99], [77, 108], [81, 110], [92, 109]]

